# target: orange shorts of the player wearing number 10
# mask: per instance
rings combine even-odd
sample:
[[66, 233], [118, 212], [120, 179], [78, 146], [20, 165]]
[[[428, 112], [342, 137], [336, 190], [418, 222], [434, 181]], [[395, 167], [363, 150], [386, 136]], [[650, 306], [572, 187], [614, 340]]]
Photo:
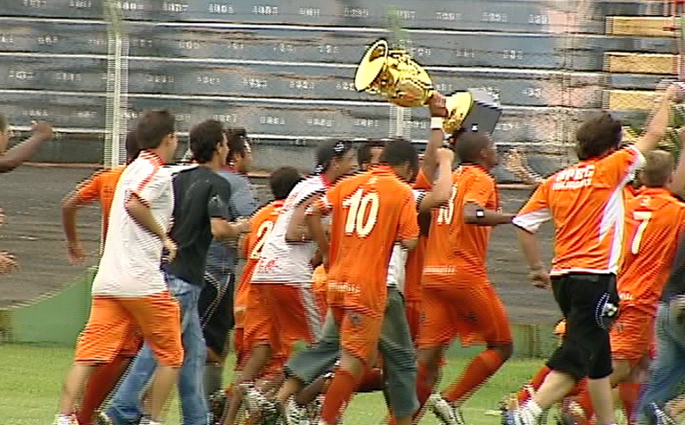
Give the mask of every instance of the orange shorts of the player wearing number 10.
[[383, 312], [365, 314], [345, 307], [331, 307], [338, 324], [340, 346], [367, 366], [378, 353], [378, 340], [383, 327]]

